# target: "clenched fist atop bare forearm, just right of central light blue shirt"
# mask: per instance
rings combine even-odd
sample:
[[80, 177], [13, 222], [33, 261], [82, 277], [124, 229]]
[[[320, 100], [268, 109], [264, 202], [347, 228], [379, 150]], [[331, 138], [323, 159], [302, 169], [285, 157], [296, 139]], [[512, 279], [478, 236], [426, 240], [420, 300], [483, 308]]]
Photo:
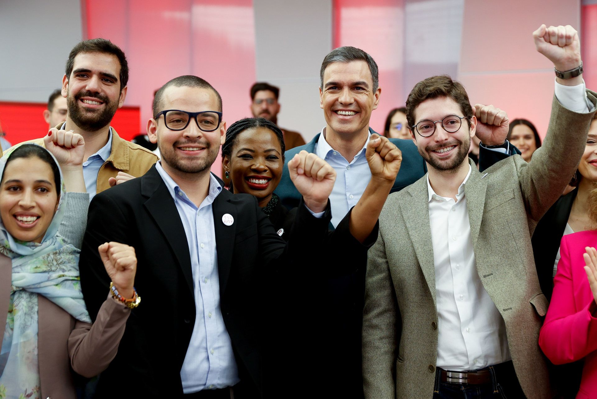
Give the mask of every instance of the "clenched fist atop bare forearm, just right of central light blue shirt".
[[365, 158], [367, 158], [371, 176], [392, 180], [392, 182], [396, 180], [402, 164], [402, 152], [387, 137], [377, 133], [371, 134], [365, 149]]

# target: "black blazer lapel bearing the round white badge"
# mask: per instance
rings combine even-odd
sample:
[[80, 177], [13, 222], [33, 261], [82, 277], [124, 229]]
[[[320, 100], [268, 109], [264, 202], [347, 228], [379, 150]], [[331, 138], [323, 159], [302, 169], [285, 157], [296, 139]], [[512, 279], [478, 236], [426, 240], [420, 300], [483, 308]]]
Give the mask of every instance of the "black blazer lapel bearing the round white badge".
[[[226, 283], [232, 267], [232, 253], [236, 237], [236, 226], [238, 225], [238, 214], [236, 207], [230, 203], [232, 194], [222, 190], [214, 199], [211, 209], [214, 214], [214, 230], [216, 231], [216, 248], [218, 257], [218, 275], [220, 278], [220, 294], [226, 290]], [[230, 226], [224, 225], [222, 216], [229, 214], [234, 222]]]

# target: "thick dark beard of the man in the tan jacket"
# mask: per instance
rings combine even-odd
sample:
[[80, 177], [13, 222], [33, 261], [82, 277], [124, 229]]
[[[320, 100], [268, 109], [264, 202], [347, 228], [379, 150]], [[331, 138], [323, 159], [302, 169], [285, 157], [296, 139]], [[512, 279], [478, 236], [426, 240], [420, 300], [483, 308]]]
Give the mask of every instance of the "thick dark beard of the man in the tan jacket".
[[[82, 109], [79, 106], [79, 99], [82, 97], [93, 97], [100, 100], [104, 103], [103, 110]], [[120, 96], [118, 98], [120, 99]], [[80, 91], [76, 96], [67, 95], [66, 105], [69, 118], [84, 131], [97, 131], [109, 125], [118, 109], [118, 102], [112, 103], [104, 94], [93, 94], [91, 91]]]

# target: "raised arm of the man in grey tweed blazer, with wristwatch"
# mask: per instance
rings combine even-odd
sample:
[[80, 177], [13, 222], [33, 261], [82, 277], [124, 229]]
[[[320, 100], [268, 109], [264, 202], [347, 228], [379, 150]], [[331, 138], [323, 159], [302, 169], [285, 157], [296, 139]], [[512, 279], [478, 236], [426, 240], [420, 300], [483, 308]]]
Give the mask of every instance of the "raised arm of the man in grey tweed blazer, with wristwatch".
[[[533, 32], [533, 38], [537, 51], [557, 70], [564, 72], [580, 65], [578, 33], [570, 25], [549, 28], [541, 25]], [[578, 93], [575, 87], [580, 88]], [[583, 154], [595, 112], [593, 104], [597, 102], [592, 93], [587, 91], [585, 94], [583, 87], [582, 75], [556, 79], [556, 96], [543, 144], [528, 164], [514, 157], [527, 213], [534, 220], [539, 220], [564, 191]], [[571, 96], [558, 93], [570, 93]], [[588, 105], [587, 97], [590, 100]], [[577, 104], [581, 105], [580, 108]]]

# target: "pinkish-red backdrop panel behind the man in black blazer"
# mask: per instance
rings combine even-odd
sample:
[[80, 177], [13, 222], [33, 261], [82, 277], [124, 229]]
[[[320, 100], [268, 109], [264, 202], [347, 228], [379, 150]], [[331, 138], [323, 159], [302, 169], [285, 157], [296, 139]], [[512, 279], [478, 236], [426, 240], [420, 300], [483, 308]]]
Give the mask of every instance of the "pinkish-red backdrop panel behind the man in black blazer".
[[[153, 92], [181, 75], [201, 76], [223, 100], [228, 125], [247, 114], [255, 82], [252, 0], [85, 0], [86, 38], [106, 38], [127, 54], [125, 104], [140, 106], [143, 133]], [[106, 13], [105, 10], [110, 10]], [[116, 130], [120, 126], [113, 123]], [[220, 157], [212, 169], [221, 174]]]

